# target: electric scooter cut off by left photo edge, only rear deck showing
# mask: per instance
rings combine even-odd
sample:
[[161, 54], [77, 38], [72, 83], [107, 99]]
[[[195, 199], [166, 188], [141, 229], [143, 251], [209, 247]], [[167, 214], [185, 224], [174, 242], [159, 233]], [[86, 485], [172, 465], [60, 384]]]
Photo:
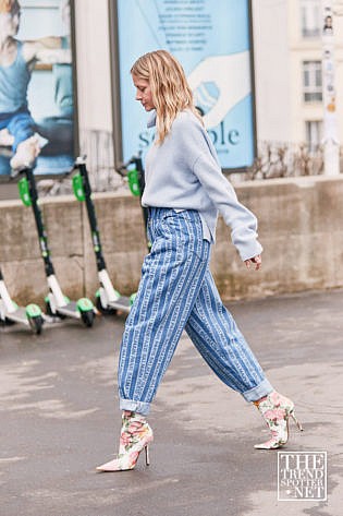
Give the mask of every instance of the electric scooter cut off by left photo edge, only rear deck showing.
[[12, 299], [4, 284], [0, 268], [0, 321], [4, 324], [21, 323], [29, 326], [32, 331], [39, 335], [44, 324], [44, 317], [38, 304], [27, 304], [19, 307]]

